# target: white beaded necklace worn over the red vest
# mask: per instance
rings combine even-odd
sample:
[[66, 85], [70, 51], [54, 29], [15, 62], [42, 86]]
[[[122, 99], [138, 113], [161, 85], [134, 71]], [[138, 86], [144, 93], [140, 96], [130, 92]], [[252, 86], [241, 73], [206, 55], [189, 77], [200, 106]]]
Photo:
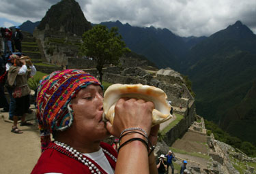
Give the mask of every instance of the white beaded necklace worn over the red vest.
[[[88, 158], [87, 156], [84, 156], [81, 152], [77, 152], [77, 150], [74, 150], [73, 147], [70, 147], [69, 145], [66, 145], [65, 143], [61, 143], [59, 141], [54, 141], [54, 143], [58, 146], [51, 145], [51, 146], [47, 147], [46, 149], [55, 149], [58, 152], [61, 152], [62, 154], [65, 154], [66, 156], [68, 156], [70, 158], [74, 158], [75, 160], [82, 162], [83, 164], [85, 164], [85, 166], [87, 166], [89, 168], [91, 173], [98, 173], [98, 174], [102, 173], [102, 171], [100, 171], [98, 169], [98, 167], [96, 167], [96, 165], [90, 161], [91, 159]], [[115, 158], [115, 156], [113, 156], [107, 150], [104, 150], [102, 148], [102, 151], [105, 154], [107, 154], [108, 156], [110, 156], [115, 162], [117, 162], [117, 158]]]

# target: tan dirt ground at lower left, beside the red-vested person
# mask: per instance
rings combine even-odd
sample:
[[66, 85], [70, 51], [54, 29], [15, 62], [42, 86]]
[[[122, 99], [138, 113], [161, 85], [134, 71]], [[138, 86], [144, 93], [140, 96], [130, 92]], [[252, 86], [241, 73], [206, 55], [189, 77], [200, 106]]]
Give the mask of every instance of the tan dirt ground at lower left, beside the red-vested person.
[[31, 173], [41, 154], [38, 128], [18, 124], [23, 134], [14, 134], [11, 132], [12, 122], [8, 120], [8, 113], [0, 113], [0, 117], [0, 173]]

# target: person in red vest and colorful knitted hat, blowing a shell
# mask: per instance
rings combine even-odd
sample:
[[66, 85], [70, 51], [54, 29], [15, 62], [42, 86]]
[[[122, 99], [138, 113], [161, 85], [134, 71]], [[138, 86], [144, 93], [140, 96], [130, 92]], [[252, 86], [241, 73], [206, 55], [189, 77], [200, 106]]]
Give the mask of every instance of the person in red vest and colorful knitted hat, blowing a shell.
[[[156, 145], [159, 129], [151, 128], [152, 102], [119, 99], [114, 124], [103, 122], [103, 86], [84, 71], [66, 69], [42, 81], [37, 104], [42, 155], [32, 174], [157, 173], [154, 153], [149, 156], [147, 149], [147, 135]], [[109, 133], [121, 139], [118, 158], [102, 142]]]

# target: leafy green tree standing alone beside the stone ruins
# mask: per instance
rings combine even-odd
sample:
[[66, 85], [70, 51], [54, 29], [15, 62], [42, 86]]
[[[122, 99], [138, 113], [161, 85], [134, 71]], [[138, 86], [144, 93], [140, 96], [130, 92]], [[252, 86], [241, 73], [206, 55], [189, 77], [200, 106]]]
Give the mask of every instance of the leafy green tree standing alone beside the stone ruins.
[[109, 30], [99, 24], [83, 33], [83, 44], [81, 45], [80, 53], [96, 60], [100, 82], [102, 82], [103, 66], [106, 63], [118, 65], [119, 57], [124, 52], [130, 52], [128, 48], [125, 48], [126, 44], [122, 41], [122, 36], [117, 33], [117, 30], [117, 27]]

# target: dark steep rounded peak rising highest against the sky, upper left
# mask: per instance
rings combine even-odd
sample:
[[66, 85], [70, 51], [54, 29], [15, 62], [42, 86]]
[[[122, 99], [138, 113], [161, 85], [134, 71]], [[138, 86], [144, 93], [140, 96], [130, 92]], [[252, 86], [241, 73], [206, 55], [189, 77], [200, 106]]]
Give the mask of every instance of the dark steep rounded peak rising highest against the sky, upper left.
[[46, 16], [42, 18], [38, 29], [46, 29], [46, 24], [53, 31], [64, 31], [76, 35], [83, 35], [85, 31], [91, 29], [91, 23], [86, 20], [79, 3], [75, 0], [61, 0], [52, 5], [46, 12]]

